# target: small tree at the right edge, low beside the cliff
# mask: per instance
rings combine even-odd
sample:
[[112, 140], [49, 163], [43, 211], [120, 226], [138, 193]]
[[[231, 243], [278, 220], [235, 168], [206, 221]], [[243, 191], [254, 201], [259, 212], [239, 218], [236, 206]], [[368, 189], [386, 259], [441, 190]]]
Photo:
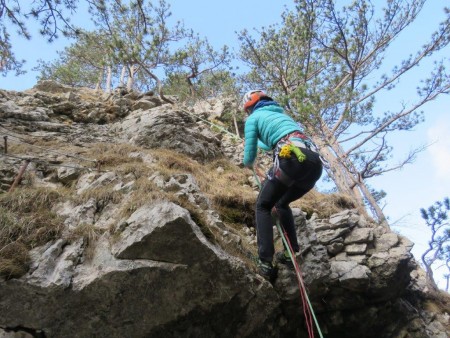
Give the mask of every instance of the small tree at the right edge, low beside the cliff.
[[435, 202], [428, 209], [420, 209], [422, 218], [431, 230], [431, 239], [428, 249], [422, 254], [422, 262], [425, 266], [428, 278], [435, 283], [433, 278], [433, 264], [441, 262], [447, 268], [445, 291], [448, 291], [450, 281], [450, 200]]

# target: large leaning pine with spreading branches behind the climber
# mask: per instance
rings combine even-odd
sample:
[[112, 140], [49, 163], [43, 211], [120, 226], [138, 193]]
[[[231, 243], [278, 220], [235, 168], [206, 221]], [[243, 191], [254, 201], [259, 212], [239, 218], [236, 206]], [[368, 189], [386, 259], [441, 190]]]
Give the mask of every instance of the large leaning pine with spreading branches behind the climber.
[[450, 88], [442, 58], [418, 83], [416, 102], [397, 111], [374, 111], [377, 94], [393, 89], [413, 67], [449, 43], [447, 10], [428, 42], [415, 52], [405, 51], [400, 64], [381, 73], [388, 47], [425, 2], [390, 0], [375, 8], [359, 0], [338, 10], [331, 0], [296, 0], [295, 9], [283, 13], [280, 28], [263, 28], [257, 38], [248, 31], [239, 34], [241, 58], [251, 67], [249, 82], [284, 98], [328, 161], [327, 173], [337, 189], [351, 196], [361, 211], [367, 203], [379, 221], [385, 216], [367, 179], [402, 168], [420, 150], [386, 166], [392, 150], [388, 135], [421, 122], [418, 110]]

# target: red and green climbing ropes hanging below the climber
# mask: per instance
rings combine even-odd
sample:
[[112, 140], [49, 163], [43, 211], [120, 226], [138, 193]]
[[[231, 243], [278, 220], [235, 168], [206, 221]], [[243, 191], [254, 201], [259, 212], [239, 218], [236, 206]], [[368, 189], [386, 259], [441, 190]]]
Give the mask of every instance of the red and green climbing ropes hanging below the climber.
[[[261, 182], [260, 182], [258, 175], [256, 174], [254, 168], [253, 168], [253, 175], [255, 176], [256, 183], [258, 184], [258, 187], [261, 190]], [[300, 271], [300, 267], [297, 263], [297, 260], [295, 259], [294, 249], [292, 248], [291, 242], [289, 241], [286, 231], [280, 224], [278, 215], [277, 215], [276, 219], [277, 219], [276, 225], [277, 225], [278, 232], [280, 233], [284, 247], [288, 249], [289, 257], [292, 261], [292, 264], [294, 264], [295, 275], [297, 277], [298, 288], [300, 291], [300, 297], [302, 299], [303, 314], [305, 316], [305, 323], [306, 323], [306, 329], [308, 331], [308, 336], [309, 336], [309, 338], [314, 338], [314, 327], [313, 327], [313, 321], [314, 321], [314, 324], [316, 325], [316, 329], [317, 329], [317, 332], [319, 333], [320, 338], [323, 338], [322, 331], [320, 330], [319, 322], [317, 321], [316, 315], [314, 313], [314, 309], [312, 307], [312, 304], [311, 304], [308, 294], [306, 292], [306, 287], [305, 287], [305, 283], [303, 282], [303, 277], [302, 277], [302, 273]]]

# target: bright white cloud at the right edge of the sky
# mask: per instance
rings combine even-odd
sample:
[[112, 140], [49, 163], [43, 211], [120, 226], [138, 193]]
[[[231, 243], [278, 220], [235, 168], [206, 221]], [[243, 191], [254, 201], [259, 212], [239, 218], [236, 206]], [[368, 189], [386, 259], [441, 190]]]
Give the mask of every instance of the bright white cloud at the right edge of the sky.
[[450, 120], [441, 119], [428, 129], [428, 142], [432, 145], [428, 148], [436, 178], [450, 180]]

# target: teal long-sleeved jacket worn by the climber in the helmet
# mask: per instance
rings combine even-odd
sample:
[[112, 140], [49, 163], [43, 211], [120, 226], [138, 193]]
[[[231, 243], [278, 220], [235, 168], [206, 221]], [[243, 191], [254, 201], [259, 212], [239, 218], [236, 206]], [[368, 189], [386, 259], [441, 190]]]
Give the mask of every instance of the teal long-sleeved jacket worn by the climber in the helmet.
[[[275, 101], [253, 111], [245, 122], [244, 166], [253, 167], [258, 147], [269, 151], [300, 126]], [[271, 102], [271, 103], [272, 103]]]

